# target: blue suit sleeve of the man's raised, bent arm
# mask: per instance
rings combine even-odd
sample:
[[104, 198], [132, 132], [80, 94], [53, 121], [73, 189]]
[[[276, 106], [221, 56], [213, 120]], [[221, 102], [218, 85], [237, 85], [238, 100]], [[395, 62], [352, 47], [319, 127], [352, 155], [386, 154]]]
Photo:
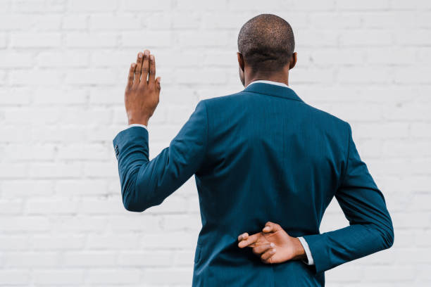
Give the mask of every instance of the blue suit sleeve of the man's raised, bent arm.
[[126, 210], [159, 205], [199, 170], [208, 144], [206, 106], [200, 101], [189, 120], [155, 158], [149, 160], [149, 134], [129, 127], [113, 139], [121, 195]]

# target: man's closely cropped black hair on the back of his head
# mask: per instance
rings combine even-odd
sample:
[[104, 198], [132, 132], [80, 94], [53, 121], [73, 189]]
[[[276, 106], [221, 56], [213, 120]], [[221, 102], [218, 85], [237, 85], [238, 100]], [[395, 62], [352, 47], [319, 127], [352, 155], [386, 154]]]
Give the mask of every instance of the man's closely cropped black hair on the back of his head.
[[238, 51], [254, 72], [280, 70], [289, 63], [294, 49], [292, 27], [277, 15], [257, 15], [239, 30]]

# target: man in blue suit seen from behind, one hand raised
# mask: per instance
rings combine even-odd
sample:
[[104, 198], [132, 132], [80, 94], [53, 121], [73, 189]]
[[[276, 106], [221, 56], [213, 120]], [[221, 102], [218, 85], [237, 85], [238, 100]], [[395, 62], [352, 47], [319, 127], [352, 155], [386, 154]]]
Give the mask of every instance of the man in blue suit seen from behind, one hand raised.
[[[392, 246], [385, 198], [350, 125], [290, 89], [289, 23], [272, 14], [251, 18], [238, 50], [245, 89], [199, 101], [153, 160], [146, 126], [160, 77], [154, 56], [138, 54], [125, 91], [131, 127], [113, 140], [124, 206], [159, 205], [194, 174], [202, 229], [193, 286], [324, 286], [326, 270]], [[320, 234], [333, 197], [349, 227]]]

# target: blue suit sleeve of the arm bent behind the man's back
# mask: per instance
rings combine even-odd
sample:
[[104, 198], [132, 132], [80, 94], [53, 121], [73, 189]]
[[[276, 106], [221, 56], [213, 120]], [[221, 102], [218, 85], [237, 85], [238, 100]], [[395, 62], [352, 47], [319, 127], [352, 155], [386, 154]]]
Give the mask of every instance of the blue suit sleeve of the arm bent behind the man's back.
[[394, 243], [392, 219], [385, 198], [358, 154], [348, 126], [346, 170], [335, 198], [349, 227], [303, 236], [313, 254], [315, 272], [390, 248]]

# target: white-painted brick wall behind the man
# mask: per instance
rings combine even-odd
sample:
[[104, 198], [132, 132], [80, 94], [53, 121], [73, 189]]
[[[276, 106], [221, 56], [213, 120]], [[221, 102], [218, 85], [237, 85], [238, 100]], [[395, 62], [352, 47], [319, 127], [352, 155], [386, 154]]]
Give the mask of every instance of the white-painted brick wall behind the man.
[[[0, 1], [0, 286], [189, 286], [194, 179], [144, 213], [121, 203], [112, 139], [137, 51], [156, 55], [150, 156], [202, 98], [242, 89], [237, 34], [291, 23], [290, 84], [351, 123], [394, 219], [389, 250], [327, 286], [431, 284], [431, 1]], [[321, 231], [348, 224], [333, 200]]]

